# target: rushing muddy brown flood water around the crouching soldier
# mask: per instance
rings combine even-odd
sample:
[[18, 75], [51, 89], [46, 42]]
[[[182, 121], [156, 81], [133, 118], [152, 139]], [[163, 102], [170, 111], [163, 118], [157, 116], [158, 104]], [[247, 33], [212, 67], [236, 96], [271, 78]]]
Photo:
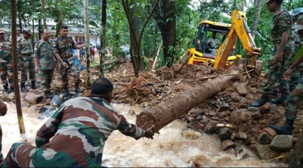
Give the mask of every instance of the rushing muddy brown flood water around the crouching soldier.
[[[15, 105], [8, 103], [8, 111], [0, 117], [3, 130], [2, 153], [6, 156], [14, 142], [24, 142], [19, 136]], [[113, 104], [130, 123], [135, 123], [135, 114], [143, 109], [125, 104]], [[36, 107], [22, 108], [25, 124], [25, 141], [34, 145], [36, 131], [47, 120], [38, 120]], [[106, 167], [287, 167], [281, 163], [261, 161], [243, 147], [242, 152], [220, 150], [220, 140], [215, 136], [186, 129], [186, 124], [174, 121], [160, 130], [154, 140], [136, 141], [113, 132], [105, 144], [102, 166]], [[237, 154], [238, 153], [238, 154]], [[237, 155], [235, 155], [237, 154]]]

